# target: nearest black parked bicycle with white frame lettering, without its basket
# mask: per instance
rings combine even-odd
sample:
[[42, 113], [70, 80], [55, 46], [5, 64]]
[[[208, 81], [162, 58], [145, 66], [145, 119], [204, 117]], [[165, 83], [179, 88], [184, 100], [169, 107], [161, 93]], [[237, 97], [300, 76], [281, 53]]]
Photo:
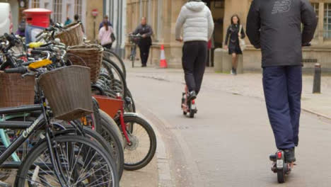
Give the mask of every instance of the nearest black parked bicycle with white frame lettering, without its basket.
[[[33, 133], [45, 130], [44, 137], [30, 149], [23, 163], [16, 164], [16, 167], [19, 166], [19, 169], [15, 186], [25, 186], [27, 183], [29, 186], [86, 186], [92, 183], [97, 186], [118, 186], [115, 163], [112, 157], [108, 157], [108, 152], [97, 142], [79, 135], [59, 136], [53, 132], [50, 120], [52, 119], [52, 114], [58, 115], [54, 111], [50, 111], [49, 106], [46, 104], [47, 96], [45, 97], [44, 94], [47, 93], [47, 90], [42, 89], [42, 82], [48, 81], [47, 78], [44, 78], [47, 77], [46, 74], [66, 71], [66, 68], [53, 69], [48, 72], [47, 68], [44, 67], [49, 64], [42, 64], [42, 67], [39, 67], [40, 64], [42, 63], [34, 62], [29, 67], [22, 66], [5, 69], [6, 74], [16, 73], [23, 74], [23, 77], [39, 77], [36, 85], [39, 104], [0, 108], [0, 114], [31, 113], [33, 111], [41, 111], [41, 113], [30, 125], [22, 122], [9, 124], [8, 122], [0, 122], [1, 128], [10, 129], [14, 126], [24, 129], [16, 140], [0, 155], [0, 163], [3, 164], [1, 167], [6, 169], [6, 164], [4, 164], [6, 159], [11, 157], [11, 154], [16, 152], [18, 147], [21, 147]], [[68, 68], [74, 69], [72, 72], [76, 72], [76, 69], [81, 67]], [[5, 73], [1, 74], [4, 75]], [[57, 108], [56, 106], [53, 107]], [[73, 115], [72, 120], [75, 118], [76, 115]], [[13, 166], [15, 164], [9, 165]]]

